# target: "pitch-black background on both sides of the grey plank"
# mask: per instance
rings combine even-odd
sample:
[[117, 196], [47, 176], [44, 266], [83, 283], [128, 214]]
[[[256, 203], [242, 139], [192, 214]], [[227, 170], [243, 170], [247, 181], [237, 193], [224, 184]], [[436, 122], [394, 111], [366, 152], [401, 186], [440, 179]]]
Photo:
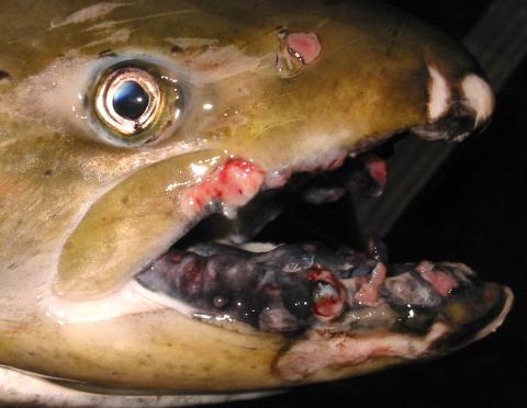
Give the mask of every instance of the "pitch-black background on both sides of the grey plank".
[[[388, 2], [459, 41], [490, 3]], [[524, 58], [498, 92], [489, 128], [455, 149], [384, 237], [392, 261], [463, 261], [509, 285], [516, 303], [503, 327], [441, 360], [232, 407], [527, 407], [526, 98]]]

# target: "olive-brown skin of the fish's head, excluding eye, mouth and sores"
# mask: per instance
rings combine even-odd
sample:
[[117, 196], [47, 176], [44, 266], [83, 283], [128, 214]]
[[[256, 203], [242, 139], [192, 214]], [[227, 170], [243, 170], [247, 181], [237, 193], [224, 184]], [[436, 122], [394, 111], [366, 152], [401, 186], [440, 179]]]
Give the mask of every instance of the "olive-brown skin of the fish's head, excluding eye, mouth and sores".
[[[2, 4], [0, 69], [11, 79], [0, 83], [0, 364], [156, 392], [291, 385], [273, 369], [294, 341], [280, 335], [213, 327], [171, 309], [60, 325], [46, 316], [41, 299], [104, 297], [183, 234], [197, 220], [179, 205], [197, 180], [192, 163], [236, 157], [267, 174], [312, 170], [324, 155], [362, 151], [429, 123], [428, 65], [452, 83], [478, 66], [445, 36], [370, 1], [143, 1], [49, 30], [52, 21], [64, 22], [92, 3]], [[316, 32], [322, 43], [321, 56], [293, 78], [280, 76], [274, 65], [279, 26]], [[122, 29], [127, 37], [112, 42]], [[189, 75], [215, 69], [192, 65], [195, 55], [175, 53], [168, 37], [234, 46], [239, 53], [228, 52], [222, 64], [228, 68], [228, 58], [244, 55], [258, 67], [190, 86], [193, 100], [181, 126], [138, 148], [98, 140], [58, 97], [53, 104], [40, 92], [27, 91], [35, 103], [24, 97], [35, 76], [81, 87], [77, 61], [96, 64], [105, 49], [154, 55]], [[70, 57], [70, 65], [61, 63]], [[54, 73], [38, 77], [53, 65]], [[53, 92], [53, 83], [38, 86]], [[211, 99], [215, 110], [204, 118], [197, 106]], [[243, 121], [225, 125], [225, 112]], [[175, 183], [180, 186], [167, 194]], [[378, 358], [325, 369], [305, 382], [399, 362]]]

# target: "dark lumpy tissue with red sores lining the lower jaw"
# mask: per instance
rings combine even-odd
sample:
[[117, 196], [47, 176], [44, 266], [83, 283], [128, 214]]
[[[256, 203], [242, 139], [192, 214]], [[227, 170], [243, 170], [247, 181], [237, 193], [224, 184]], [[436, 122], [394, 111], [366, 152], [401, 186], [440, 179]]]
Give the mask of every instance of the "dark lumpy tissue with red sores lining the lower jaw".
[[492, 311], [503, 303], [481, 295], [475, 274], [462, 264], [389, 264], [379, 241], [367, 253], [314, 242], [171, 248], [136, 282], [155, 302], [194, 319], [285, 336], [325, 327], [423, 336], [445, 320], [445, 310], [476, 320], [478, 308]]

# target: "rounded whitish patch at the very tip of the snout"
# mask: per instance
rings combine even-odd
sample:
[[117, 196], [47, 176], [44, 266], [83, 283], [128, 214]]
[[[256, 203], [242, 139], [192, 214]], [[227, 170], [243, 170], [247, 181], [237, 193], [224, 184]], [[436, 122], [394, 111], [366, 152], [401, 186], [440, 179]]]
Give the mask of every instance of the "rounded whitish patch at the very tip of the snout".
[[475, 112], [475, 127], [479, 127], [494, 111], [494, 93], [491, 86], [475, 73], [469, 73], [463, 78], [461, 89], [467, 104]]

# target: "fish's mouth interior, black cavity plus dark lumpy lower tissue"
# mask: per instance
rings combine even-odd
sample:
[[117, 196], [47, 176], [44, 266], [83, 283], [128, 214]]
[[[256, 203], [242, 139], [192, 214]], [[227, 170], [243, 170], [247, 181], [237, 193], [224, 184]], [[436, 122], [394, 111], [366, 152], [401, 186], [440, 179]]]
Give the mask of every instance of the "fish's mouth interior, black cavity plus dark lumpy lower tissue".
[[424, 335], [451, 298], [472, 296], [475, 276], [455, 264], [390, 264], [378, 239], [363, 252], [341, 243], [357, 242], [349, 194], [382, 192], [378, 160], [363, 155], [330, 172], [298, 174], [234, 217], [210, 215], [136, 281], [222, 326], [288, 336], [321, 325]]

